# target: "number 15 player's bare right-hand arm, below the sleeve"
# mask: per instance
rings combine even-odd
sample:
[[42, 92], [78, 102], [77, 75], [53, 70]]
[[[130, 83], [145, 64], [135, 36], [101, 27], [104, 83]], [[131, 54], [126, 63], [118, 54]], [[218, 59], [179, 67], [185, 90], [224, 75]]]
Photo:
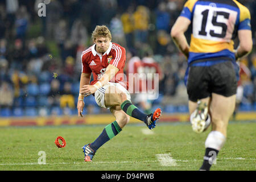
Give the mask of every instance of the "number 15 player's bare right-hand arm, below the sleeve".
[[240, 44], [235, 51], [236, 60], [240, 59], [240, 57], [246, 56], [251, 52], [251, 49], [253, 49], [251, 30], [239, 30], [238, 39]]

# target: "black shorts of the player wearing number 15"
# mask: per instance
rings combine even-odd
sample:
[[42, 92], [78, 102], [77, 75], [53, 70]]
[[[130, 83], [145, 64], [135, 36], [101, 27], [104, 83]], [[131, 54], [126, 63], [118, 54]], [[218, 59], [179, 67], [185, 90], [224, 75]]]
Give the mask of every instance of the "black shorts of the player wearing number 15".
[[233, 96], [237, 92], [237, 76], [231, 61], [209, 67], [191, 65], [188, 72], [187, 92], [190, 101], [211, 97], [212, 93]]

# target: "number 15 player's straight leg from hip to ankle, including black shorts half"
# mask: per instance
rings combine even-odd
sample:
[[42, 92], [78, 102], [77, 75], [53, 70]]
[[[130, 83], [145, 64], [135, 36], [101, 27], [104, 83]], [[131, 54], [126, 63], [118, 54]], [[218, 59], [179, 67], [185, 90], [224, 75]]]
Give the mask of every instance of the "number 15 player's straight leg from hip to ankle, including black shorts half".
[[212, 131], [205, 140], [205, 156], [201, 170], [210, 169], [224, 146], [228, 122], [236, 105], [237, 77], [233, 63], [226, 61], [209, 69], [213, 84], [210, 104]]

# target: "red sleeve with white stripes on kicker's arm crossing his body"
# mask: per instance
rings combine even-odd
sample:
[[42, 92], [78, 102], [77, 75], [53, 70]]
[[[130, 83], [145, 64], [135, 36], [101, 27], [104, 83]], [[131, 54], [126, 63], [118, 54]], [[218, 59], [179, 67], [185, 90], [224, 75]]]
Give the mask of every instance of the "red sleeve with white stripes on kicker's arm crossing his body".
[[115, 45], [114, 56], [109, 64], [112, 64], [114, 67], [117, 67], [119, 70], [124, 66], [126, 60], [126, 51], [125, 48]]

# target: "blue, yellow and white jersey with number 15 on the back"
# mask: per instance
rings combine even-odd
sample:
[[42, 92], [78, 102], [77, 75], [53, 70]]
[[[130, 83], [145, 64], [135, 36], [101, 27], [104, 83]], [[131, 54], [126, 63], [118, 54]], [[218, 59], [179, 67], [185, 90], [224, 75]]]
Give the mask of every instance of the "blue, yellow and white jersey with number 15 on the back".
[[237, 32], [251, 30], [249, 10], [235, 0], [188, 0], [180, 16], [192, 23], [188, 64], [214, 57], [235, 61], [233, 40]]

